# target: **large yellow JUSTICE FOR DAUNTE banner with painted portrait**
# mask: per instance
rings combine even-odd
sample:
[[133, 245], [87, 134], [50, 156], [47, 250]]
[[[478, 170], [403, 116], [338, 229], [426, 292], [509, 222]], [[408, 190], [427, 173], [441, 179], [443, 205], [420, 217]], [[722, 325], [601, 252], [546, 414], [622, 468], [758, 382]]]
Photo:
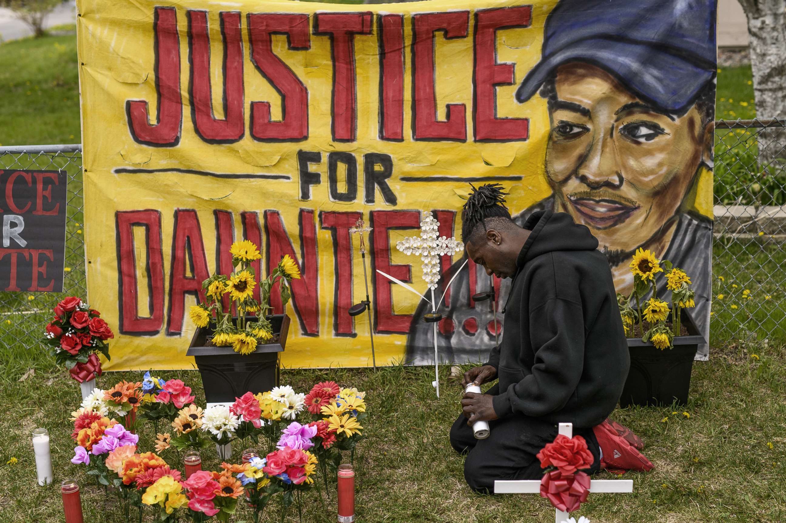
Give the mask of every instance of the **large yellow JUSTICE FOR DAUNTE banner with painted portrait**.
[[[286, 366], [370, 365], [371, 327], [377, 364], [433, 358], [420, 298], [376, 269], [425, 293], [421, 260], [395, 243], [424, 210], [461, 236], [469, 182], [504, 185], [519, 221], [573, 214], [620, 290], [641, 246], [700, 259], [691, 276], [707, 279], [692, 239], [711, 231], [715, 66], [695, 48], [714, 49], [714, 5], [692, 7], [699, 36], [669, 50], [673, 13], [653, 30], [630, 2], [593, 3], [79, 0], [89, 300], [117, 333], [105, 368], [191, 368], [189, 306], [241, 238], [263, 253], [258, 275], [283, 254], [303, 274]], [[358, 219], [373, 228], [371, 326], [347, 313], [365, 299]], [[446, 359], [494, 343], [471, 298], [489, 287], [479, 269], [446, 296]]]

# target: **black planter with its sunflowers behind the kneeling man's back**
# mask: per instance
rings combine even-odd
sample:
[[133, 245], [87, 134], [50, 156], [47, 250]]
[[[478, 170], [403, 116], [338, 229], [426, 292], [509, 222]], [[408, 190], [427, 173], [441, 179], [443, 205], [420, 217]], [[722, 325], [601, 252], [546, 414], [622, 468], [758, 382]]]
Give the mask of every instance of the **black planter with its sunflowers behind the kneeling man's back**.
[[[620, 405], [685, 404], [693, 358], [699, 345], [706, 342], [685, 313], [695, 306], [690, 278], [668, 260], [659, 260], [642, 249], [636, 251], [630, 271], [633, 291], [629, 296], [617, 294], [630, 351], [630, 371]], [[658, 298], [659, 272], [671, 292], [670, 303]], [[645, 301], [647, 294], [650, 298]]]

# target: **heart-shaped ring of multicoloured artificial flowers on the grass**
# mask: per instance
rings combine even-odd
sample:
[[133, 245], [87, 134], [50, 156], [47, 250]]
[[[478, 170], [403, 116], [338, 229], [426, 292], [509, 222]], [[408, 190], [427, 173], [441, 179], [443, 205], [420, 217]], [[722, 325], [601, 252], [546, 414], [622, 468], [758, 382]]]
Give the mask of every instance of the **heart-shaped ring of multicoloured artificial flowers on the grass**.
[[[292, 504], [300, 513], [303, 494], [318, 488], [314, 481], [318, 466], [327, 486], [327, 466], [340, 463], [339, 451], [351, 450], [354, 455], [362, 439], [359, 420], [366, 416], [364, 398], [365, 393], [357, 389], [321, 382], [308, 394], [280, 386], [266, 393], [245, 393], [229, 407], [202, 409], [182, 381], [164, 381], [148, 372], [142, 382], [95, 389], [72, 412], [72, 437], [77, 444], [72, 463], [84, 464], [87, 474], [105, 488], [116, 488], [126, 521], [132, 507], [138, 508], [140, 518], [144, 507], [155, 507], [157, 518], [165, 523], [213, 517], [229, 521], [243, 494], [255, 522], [270, 500], [281, 494], [283, 518]], [[155, 452], [141, 452], [138, 435], [115, 419], [123, 416], [128, 421], [137, 409], [143, 412], [139, 419], [156, 423], [156, 433], [160, 420], [171, 419], [174, 436], [157, 433]], [[171, 413], [171, 409], [178, 410]], [[150, 412], [166, 414], [151, 417]], [[309, 414], [313, 421], [296, 421]], [[220, 472], [198, 471], [185, 478], [162, 456], [171, 448], [204, 450], [211, 441], [226, 445], [242, 440], [245, 445], [247, 438], [255, 443], [264, 438], [266, 455], [240, 465], [222, 463]], [[179, 463], [180, 453], [171, 458]]]

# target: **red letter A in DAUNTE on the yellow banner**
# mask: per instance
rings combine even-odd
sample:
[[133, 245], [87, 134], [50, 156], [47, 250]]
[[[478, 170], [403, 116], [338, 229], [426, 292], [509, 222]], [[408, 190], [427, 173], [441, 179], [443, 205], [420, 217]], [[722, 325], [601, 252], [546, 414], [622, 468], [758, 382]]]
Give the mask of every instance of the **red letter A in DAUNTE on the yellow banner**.
[[185, 315], [185, 294], [195, 296], [196, 302], [207, 301], [202, 282], [210, 277], [210, 271], [196, 210], [174, 211], [171, 259], [167, 335], [180, 335]]

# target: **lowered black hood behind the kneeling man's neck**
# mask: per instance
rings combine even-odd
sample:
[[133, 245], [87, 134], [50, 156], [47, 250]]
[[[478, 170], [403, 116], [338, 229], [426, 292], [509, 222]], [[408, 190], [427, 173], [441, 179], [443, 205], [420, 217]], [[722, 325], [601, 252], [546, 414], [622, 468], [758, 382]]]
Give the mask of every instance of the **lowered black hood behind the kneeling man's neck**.
[[586, 225], [578, 225], [570, 214], [539, 210], [524, 223], [524, 229], [532, 231], [524, 243], [516, 266], [519, 270], [525, 263], [541, 254], [553, 251], [595, 251], [597, 239]]

